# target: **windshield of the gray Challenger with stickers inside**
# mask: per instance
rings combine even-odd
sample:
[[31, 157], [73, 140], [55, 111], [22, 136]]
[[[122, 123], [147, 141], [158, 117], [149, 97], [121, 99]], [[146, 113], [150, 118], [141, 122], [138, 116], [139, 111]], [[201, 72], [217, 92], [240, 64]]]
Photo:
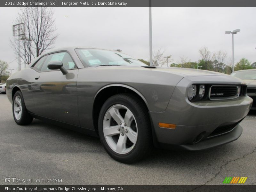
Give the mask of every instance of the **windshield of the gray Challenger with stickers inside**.
[[100, 49], [76, 49], [76, 53], [84, 65], [91, 67], [110, 65], [147, 66], [143, 62], [121, 52]]

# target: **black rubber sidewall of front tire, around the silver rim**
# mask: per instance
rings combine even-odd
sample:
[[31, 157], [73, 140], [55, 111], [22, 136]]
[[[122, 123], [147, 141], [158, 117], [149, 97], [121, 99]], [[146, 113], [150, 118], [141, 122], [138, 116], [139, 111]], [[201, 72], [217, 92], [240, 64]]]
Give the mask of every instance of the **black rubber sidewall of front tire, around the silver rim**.
[[[108, 152], [108, 154], [113, 157], [114, 159], [123, 162], [123, 163], [133, 163], [137, 160], [141, 159], [141, 155], [144, 153], [144, 145], [147, 145], [147, 140], [149, 137], [149, 134], [143, 134], [144, 132], [148, 133], [149, 126], [148, 126], [148, 119], [145, 119], [145, 114], [142, 113], [147, 113], [146, 110], [141, 110], [140, 108], [138, 108], [136, 106], [136, 104], [134, 103], [134, 98], [126, 99], [125, 97], [123, 97], [123, 95], [116, 95], [116, 96], [112, 96], [110, 97], [102, 106], [101, 110], [100, 110], [100, 115], [99, 115], [99, 136], [100, 136], [100, 140], [104, 146], [104, 148], [106, 149], [106, 151]], [[104, 133], [103, 133], [103, 119], [104, 116], [107, 112], [107, 110], [116, 105], [116, 104], [120, 104], [120, 105], [124, 105], [125, 107], [129, 108], [136, 120], [137, 123], [137, 141], [136, 144], [134, 146], [134, 148], [127, 154], [118, 154], [115, 151], [113, 151], [109, 146], [108, 143], [104, 137]], [[147, 114], [148, 115], [148, 114]], [[150, 130], [149, 130], [150, 131]]]

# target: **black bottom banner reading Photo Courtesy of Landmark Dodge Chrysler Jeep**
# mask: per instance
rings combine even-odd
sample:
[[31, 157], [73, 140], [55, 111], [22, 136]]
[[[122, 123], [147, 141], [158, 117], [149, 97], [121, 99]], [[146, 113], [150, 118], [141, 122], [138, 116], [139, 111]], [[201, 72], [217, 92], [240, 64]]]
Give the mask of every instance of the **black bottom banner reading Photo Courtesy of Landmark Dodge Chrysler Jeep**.
[[255, 185], [2, 185], [1, 192], [251, 192]]

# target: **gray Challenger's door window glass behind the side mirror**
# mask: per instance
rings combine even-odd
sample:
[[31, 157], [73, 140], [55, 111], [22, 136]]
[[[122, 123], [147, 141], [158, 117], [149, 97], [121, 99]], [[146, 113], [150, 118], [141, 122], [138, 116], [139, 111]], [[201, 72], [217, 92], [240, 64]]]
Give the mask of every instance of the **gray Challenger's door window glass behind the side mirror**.
[[43, 67], [41, 68], [41, 71], [48, 71], [48, 64], [51, 61], [61, 61], [63, 64], [63, 67], [65, 69], [74, 69], [76, 68], [76, 65], [70, 55], [67, 52], [59, 52], [59, 53], [53, 53], [50, 55], [47, 55], [47, 58], [43, 64]]

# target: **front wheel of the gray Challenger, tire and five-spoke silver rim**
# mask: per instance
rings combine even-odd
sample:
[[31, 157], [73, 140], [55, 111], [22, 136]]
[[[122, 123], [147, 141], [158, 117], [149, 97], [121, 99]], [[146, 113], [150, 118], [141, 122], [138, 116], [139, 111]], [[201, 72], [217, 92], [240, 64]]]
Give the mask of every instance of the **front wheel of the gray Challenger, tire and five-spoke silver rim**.
[[122, 163], [138, 162], [152, 148], [148, 110], [133, 94], [116, 94], [105, 101], [98, 131], [109, 156]]

